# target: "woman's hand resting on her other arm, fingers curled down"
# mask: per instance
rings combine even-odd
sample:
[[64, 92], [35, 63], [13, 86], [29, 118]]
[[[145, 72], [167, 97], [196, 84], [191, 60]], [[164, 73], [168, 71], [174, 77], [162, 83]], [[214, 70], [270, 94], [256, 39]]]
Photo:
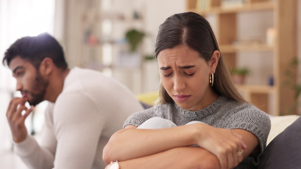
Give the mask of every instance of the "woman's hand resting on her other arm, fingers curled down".
[[197, 144], [219, 159], [221, 169], [236, 167], [242, 160], [241, 153], [247, 149], [243, 137], [234, 131], [202, 124]]

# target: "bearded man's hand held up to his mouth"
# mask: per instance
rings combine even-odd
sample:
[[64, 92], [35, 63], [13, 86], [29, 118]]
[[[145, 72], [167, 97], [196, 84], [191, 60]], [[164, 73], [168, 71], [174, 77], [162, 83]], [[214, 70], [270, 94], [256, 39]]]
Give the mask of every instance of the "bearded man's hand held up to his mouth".
[[[34, 106], [31, 106], [30, 109], [27, 109], [24, 104], [26, 102], [26, 98], [13, 98], [8, 105], [8, 109], [6, 112], [6, 117], [8, 119], [8, 124], [11, 128], [11, 134], [13, 136], [13, 140], [16, 143], [19, 143], [26, 139], [27, 130], [24, 124], [26, 117], [32, 112]], [[19, 108], [17, 109], [17, 106]], [[22, 111], [25, 110], [25, 114], [22, 115]]]

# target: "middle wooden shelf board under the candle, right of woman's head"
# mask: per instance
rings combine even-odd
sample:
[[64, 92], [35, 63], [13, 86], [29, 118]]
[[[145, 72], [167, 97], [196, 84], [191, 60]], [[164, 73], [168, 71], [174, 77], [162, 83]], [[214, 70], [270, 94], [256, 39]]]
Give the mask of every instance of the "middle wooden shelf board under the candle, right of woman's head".
[[220, 45], [222, 53], [235, 53], [237, 51], [274, 51], [273, 46], [266, 44], [250, 44], [250, 45]]

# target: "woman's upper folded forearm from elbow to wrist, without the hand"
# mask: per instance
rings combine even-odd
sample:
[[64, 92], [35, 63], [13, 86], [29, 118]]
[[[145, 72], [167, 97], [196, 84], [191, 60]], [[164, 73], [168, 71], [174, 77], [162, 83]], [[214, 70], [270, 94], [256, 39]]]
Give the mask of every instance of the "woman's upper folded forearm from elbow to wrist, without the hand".
[[129, 125], [112, 135], [103, 150], [103, 160], [125, 161], [168, 149], [197, 144], [194, 140], [202, 125], [185, 125], [163, 129], [136, 129]]

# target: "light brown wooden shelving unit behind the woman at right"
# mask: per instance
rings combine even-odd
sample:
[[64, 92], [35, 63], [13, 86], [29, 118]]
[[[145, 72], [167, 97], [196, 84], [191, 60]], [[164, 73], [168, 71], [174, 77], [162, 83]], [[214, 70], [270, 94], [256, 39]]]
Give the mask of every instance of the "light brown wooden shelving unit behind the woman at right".
[[[209, 6], [205, 10], [197, 10], [198, 0], [186, 0], [187, 11], [196, 12], [203, 17], [216, 16], [216, 38], [222, 56], [230, 70], [237, 65], [237, 53], [241, 52], [272, 52], [273, 59], [273, 86], [238, 85], [247, 101], [259, 109], [272, 115], [286, 115], [295, 103], [295, 92], [283, 83], [287, 79], [285, 71], [296, 58], [296, 0], [245, 0], [241, 7], [224, 8], [223, 0], [208, 0]], [[244, 12], [272, 11], [275, 28], [274, 45], [253, 43], [248, 45], [234, 45], [237, 38], [237, 15]], [[250, 31], [252, 31], [250, 29]], [[266, 81], [266, 79], [263, 79]], [[291, 84], [296, 84], [296, 78], [290, 79]], [[270, 107], [273, 106], [273, 110]]]

